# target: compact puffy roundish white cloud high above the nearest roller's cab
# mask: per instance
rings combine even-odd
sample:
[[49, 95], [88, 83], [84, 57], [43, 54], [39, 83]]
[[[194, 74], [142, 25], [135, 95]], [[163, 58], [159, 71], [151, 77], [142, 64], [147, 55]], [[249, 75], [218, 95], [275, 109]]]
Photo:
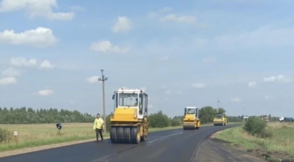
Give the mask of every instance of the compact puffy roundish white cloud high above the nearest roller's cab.
[[123, 16], [123, 17], [119, 16], [118, 19], [116, 20], [116, 23], [111, 28], [111, 30], [115, 33], [128, 32], [131, 29], [132, 29], [131, 21], [126, 16]]

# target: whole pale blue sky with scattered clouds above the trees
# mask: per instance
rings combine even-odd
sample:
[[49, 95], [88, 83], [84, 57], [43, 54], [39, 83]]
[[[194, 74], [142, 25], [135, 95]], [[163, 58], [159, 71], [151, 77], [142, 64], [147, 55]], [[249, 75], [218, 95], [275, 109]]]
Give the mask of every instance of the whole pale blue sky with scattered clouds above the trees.
[[[0, 2], [0, 105], [107, 114], [120, 87], [149, 113], [293, 114], [291, 0]], [[96, 77], [95, 77], [96, 76]], [[92, 77], [92, 78], [91, 78]]]

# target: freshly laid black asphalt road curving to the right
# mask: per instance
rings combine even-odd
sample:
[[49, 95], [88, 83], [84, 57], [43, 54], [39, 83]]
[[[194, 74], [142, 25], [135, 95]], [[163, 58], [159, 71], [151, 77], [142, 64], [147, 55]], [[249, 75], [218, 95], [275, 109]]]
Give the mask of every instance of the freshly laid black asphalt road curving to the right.
[[0, 158], [0, 162], [190, 162], [201, 141], [227, 126], [150, 132], [138, 145], [87, 142]]

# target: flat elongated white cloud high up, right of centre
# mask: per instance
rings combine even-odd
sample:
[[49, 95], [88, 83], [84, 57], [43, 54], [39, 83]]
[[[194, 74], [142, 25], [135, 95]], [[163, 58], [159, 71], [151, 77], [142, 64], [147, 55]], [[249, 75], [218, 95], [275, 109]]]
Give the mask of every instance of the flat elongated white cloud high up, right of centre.
[[196, 20], [194, 16], [179, 16], [176, 14], [168, 14], [160, 18], [161, 22], [173, 21], [176, 23], [194, 23]]

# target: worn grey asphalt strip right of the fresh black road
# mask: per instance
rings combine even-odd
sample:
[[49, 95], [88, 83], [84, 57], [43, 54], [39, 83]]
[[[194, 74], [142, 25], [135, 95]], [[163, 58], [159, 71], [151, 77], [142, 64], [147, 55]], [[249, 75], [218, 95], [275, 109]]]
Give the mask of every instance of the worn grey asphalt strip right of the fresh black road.
[[200, 144], [193, 162], [266, 162], [245, 151], [235, 149], [211, 135]]

